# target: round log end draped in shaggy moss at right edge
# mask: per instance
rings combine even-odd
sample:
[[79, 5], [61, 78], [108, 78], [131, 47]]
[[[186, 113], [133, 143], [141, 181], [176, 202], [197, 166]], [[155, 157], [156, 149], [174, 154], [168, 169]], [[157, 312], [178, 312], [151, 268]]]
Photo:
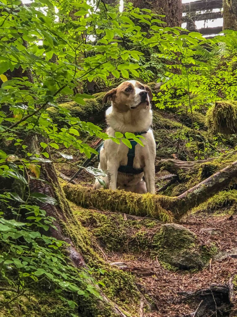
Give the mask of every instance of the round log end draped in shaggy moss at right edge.
[[216, 101], [206, 114], [211, 133], [235, 134], [237, 132], [237, 101]]

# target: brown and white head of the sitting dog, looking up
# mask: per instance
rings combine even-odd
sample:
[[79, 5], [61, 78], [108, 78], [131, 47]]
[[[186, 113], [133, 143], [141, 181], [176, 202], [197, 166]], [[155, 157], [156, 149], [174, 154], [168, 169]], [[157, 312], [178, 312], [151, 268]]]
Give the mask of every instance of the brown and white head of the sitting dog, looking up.
[[117, 88], [107, 92], [103, 98], [103, 105], [111, 100], [112, 106], [119, 112], [147, 109], [152, 97], [152, 91], [147, 85], [135, 80], [124, 81]]

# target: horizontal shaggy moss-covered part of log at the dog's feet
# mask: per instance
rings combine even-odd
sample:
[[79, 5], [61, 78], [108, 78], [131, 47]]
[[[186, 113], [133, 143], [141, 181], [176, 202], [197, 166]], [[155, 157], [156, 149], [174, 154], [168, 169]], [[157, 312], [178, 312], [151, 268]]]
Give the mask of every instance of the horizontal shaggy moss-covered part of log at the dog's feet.
[[172, 221], [172, 213], [161, 207], [166, 199], [172, 198], [147, 194], [135, 194], [123, 190], [111, 191], [109, 189], [93, 190], [81, 185], [65, 184], [63, 186], [66, 197], [83, 207], [97, 208], [125, 212], [137, 216], [150, 216], [163, 223]]

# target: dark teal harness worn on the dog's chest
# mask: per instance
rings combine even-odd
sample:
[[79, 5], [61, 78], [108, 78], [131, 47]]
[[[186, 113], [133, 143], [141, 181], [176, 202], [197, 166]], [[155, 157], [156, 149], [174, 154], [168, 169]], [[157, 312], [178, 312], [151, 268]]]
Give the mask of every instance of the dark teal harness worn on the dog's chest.
[[[135, 135], [141, 135], [147, 133], [147, 131], [142, 131], [142, 132], [135, 132]], [[143, 168], [134, 168], [133, 167], [133, 160], [135, 158], [135, 146], [137, 145], [137, 141], [131, 140], [131, 149], [128, 149], [128, 163], [127, 165], [120, 165], [118, 171], [121, 173], [127, 173], [127, 174], [140, 174], [143, 172]], [[98, 159], [100, 160], [100, 150], [104, 146], [104, 141], [100, 143], [100, 147], [97, 149], [98, 154]]]

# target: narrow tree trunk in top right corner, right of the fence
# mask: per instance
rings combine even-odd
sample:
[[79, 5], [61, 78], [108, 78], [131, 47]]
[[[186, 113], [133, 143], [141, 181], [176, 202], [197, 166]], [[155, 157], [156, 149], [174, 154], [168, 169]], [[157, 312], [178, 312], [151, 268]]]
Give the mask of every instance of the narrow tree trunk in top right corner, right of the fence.
[[223, 30], [237, 30], [237, 0], [223, 0]]

